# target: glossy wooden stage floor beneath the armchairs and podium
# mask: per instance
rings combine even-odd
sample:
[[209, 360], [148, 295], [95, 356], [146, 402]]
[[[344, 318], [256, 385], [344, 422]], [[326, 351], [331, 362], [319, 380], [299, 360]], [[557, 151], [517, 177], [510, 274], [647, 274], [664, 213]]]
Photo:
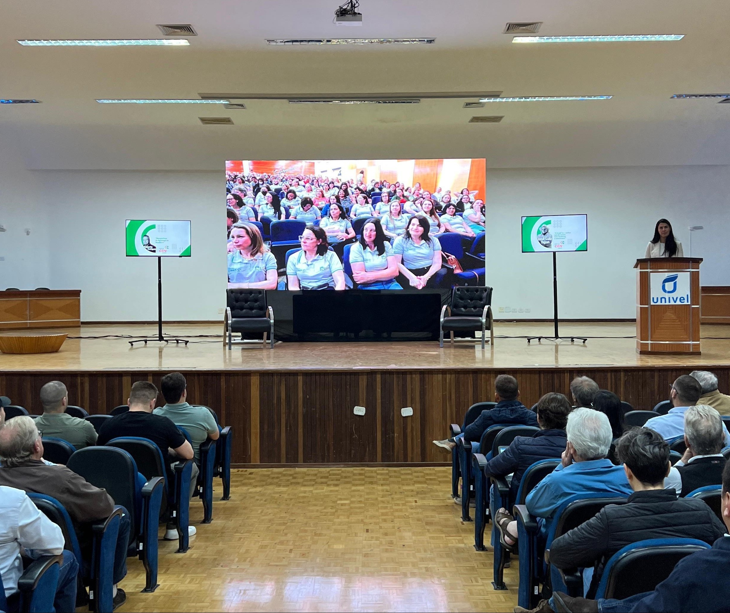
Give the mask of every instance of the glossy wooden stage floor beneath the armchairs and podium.
[[[702, 326], [701, 355], [639, 355], [634, 336], [636, 327], [632, 322], [561, 324], [561, 334], [588, 336], [586, 344], [580, 341], [527, 344], [526, 336], [552, 334], [552, 324], [496, 323], [494, 347], [487, 345], [484, 351], [478, 343], [465, 342], [453, 345], [445, 342], [443, 349], [439, 349], [437, 342], [280, 342], [273, 350], [260, 345], [234, 345], [228, 351], [223, 345], [222, 328], [222, 324], [166, 325], [167, 336], [190, 339], [187, 347], [156, 341], [130, 347], [130, 337], [156, 337], [156, 325], [57, 328], [53, 332], [69, 333], [69, 339], [58, 353], [0, 353], [0, 370], [347, 371], [730, 365], [730, 325]], [[82, 338], [70, 338], [74, 336]], [[100, 336], [110, 338], [91, 338]]]

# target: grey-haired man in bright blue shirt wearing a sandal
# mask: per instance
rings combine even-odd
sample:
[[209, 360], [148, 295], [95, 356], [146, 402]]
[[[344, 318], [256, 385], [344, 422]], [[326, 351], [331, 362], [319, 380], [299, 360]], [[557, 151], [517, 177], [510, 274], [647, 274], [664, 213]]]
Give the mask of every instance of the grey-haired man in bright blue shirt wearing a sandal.
[[[573, 409], [566, 425], [568, 442], [562, 462], [535, 486], [526, 498], [527, 510], [537, 517], [545, 535], [550, 520], [568, 498], [576, 494], [605, 493], [629, 496], [631, 487], [623, 466], [614, 466], [606, 456], [611, 447], [611, 424], [603, 413], [584, 406]], [[517, 522], [495, 518], [503, 542], [517, 541]], [[509, 540], [507, 540], [509, 539]], [[521, 609], [520, 609], [521, 610]]]

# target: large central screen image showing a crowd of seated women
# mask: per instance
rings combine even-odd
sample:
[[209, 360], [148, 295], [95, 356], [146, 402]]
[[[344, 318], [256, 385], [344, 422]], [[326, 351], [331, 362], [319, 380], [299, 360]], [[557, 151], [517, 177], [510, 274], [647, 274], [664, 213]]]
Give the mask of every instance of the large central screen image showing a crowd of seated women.
[[228, 288], [484, 285], [485, 160], [226, 162]]

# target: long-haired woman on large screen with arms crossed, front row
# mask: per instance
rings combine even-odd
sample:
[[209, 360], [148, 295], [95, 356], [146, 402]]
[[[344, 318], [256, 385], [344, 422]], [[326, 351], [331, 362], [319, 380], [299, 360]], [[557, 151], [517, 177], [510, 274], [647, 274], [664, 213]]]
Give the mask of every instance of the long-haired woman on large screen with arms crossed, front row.
[[353, 281], [359, 290], [402, 290], [396, 277], [398, 260], [380, 220], [370, 217], [360, 240], [350, 248]]

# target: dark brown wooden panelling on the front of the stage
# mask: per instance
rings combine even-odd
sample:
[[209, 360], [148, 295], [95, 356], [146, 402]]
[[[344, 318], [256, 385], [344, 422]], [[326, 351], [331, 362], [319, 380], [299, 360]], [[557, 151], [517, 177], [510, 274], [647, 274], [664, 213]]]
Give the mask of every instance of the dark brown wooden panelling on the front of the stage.
[[[730, 366], [696, 366], [718, 375], [730, 390]], [[448, 458], [433, 444], [450, 423], [478, 401], [493, 400], [494, 378], [512, 374], [521, 398], [532, 406], [550, 391], [569, 395], [574, 377], [586, 375], [634, 409], [651, 409], [669, 397], [672, 382], [690, 369], [662, 367], [534, 368], [414, 371], [226, 371], [186, 372], [188, 401], [207, 404], [234, 432], [233, 461], [246, 465], [343, 463], [434, 463]], [[0, 391], [31, 413], [42, 412], [38, 396], [58, 379], [69, 403], [90, 413], [126, 404], [134, 381], [160, 384], [162, 373], [29, 372], [0, 374]], [[162, 398], [160, 398], [162, 402]], [[354, 406], [364, 406], [363, 416]], [[411, 406], [412, 417], [401, 409]]]

